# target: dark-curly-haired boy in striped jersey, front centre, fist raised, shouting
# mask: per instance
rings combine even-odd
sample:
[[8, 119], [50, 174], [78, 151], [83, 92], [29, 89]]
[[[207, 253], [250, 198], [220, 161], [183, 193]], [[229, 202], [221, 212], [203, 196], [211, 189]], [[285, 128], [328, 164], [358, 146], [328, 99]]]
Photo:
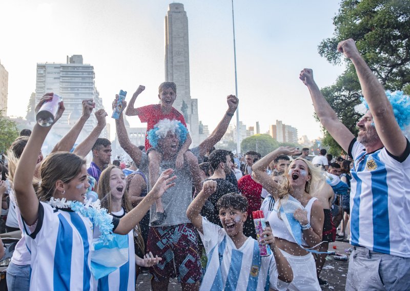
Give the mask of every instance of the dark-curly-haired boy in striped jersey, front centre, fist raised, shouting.
[[205, 181], [187, 210], [208, 257], [200, 290], [286, 290], [293, 272], [275, 245], [271, 228], [265, 228], [262, 235], [266, 237], [261, 239], [262, 243], [270, 244], [273, 253], [270, 256], [260, 256], [258, 241], [243, 234], [243, 223], [248, 216], [245, 197], [229, 193], [219, 198], [216, 208], [223, 228], [199, 214], [215, 191], [216, 182]]

